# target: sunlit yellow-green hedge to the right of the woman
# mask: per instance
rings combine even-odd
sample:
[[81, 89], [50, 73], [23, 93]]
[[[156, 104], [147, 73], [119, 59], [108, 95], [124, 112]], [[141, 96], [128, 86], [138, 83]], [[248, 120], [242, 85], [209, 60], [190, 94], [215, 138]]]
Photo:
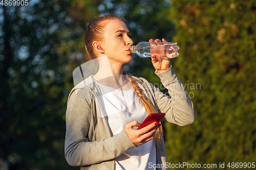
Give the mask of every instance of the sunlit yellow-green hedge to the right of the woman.
[[180, 46], [173, 67], [193, 96], [196, 122], [167, 125], [168, 162], [255, 162], [255, 1], [173, 0], [171, 7]]

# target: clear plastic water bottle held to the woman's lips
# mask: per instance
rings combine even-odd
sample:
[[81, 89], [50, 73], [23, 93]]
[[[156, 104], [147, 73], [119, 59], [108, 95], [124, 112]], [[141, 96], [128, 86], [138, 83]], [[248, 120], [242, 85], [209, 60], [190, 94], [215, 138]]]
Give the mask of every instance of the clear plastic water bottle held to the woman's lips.
[[151, 55], [156, 55], [156, 57], [163, 58], [175, 58], [179, 56], [177, 52], [180, 49], [176, 43], [173, 42], [160, 42], [152, 46], [150, 42], [140, 42], [137, 45], [130, 47], [131, 53], [136, 53], [140, 57], [151, 57]]

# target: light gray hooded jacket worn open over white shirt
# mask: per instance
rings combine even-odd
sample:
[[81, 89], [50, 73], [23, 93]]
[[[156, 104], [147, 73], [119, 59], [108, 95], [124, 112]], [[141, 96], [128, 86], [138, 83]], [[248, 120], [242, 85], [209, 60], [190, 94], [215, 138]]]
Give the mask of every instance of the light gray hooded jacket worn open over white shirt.
[[[143, 78], [137, 83], [156, 108], [158, 113], [166, 113], [163, 121], [186, 126], [194, 123], [193, 103], [176, 77], [172, 68], [158, 74], [163, 86], [171, 96], [163, 94]], [[75, 91], [75, 92], [74, 92]], [[136, 147], [122, 130], [113, 135], [98, 101], [97, 89], [91, 86], [75, 86], [68, 98], [66, 111], [65, 157], [69, 165], [81, 169], [115, 169], [115, 158]], [[157, 164], [167, 169], [164, 140], [156, 146]]]

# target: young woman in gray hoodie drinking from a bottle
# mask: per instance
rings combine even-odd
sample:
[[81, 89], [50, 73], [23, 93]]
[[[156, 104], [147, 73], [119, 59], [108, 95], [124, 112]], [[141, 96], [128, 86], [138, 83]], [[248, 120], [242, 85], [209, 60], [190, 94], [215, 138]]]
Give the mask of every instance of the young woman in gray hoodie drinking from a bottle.
[[136, 127], [150, 113], [166, 113], [162, 120], [180, 126], [195, 121], [193, 104], [169, 59], [152, 56], [155, 74], [171, 98], [147, 80], [123, 72], [123, 64], [132, 61], [133, 40], [122, 18], [104, 15], [91, 20], [84, 41], [99, 69], [70, 92], [67, 162], [81, 169], [167, 169], [161, 125]]

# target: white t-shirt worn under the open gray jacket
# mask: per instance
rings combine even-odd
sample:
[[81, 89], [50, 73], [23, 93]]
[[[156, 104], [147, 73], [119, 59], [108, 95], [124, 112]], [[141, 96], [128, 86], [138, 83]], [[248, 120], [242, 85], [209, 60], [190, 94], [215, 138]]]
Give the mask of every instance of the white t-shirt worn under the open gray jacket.
[[[110, 125], [113, 135], [120, 133], [124, 126], [133, 120], [142, 123], [147, 117], [143, 104], [136, 96], [133, 88], [130, 90], [119, 90], [101, 85], [93, 80], [99, 87], [99, 96], [102, 109]], [[137, 127], [134, 127], [137, 129]], [[116, 158], [116, 170], [153, 170], [148, 163], [156, 163], [155, 141], [150, 140], [138, 147], [127, 150]]]

